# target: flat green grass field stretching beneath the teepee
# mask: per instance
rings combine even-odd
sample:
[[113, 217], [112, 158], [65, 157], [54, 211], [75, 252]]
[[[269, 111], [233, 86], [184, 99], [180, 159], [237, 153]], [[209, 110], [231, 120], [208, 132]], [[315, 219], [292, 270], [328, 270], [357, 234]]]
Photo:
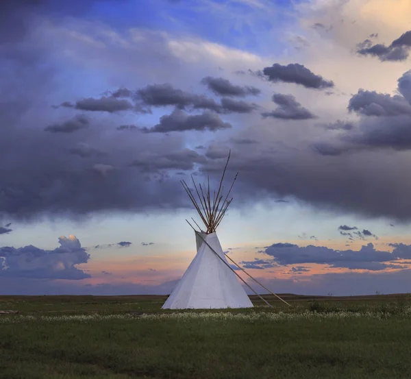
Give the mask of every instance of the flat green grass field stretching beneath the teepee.
[[[269, 298], [269, 297], [268, 297]], [[252, 298], [162, 311], [162, 296], [0, 296], [0, 378], [410, 378], [408, 295]]]

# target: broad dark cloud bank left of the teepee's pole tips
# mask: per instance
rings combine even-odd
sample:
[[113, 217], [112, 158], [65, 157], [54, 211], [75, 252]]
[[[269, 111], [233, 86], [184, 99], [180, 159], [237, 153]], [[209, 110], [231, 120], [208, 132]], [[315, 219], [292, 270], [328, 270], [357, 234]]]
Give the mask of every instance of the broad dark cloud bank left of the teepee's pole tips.
[[[49, 215], [79, 217], [96, 211], [138, 212], [186, 205], [177, 178], [167, 178], [159, 184], [133, 167], [127, 167], [135, 156], [135, 148], [130, 151], [124, 145], [116, 145], [114, 140], [113, 147], [118, 149], [112, 150], [110, 160], [123, 166], [114, 168], [110, 164], [99, 164], [96, 156], [82, 160], [72, 156], [70, 159], [68, 152], [62, 154], [64, 140], [54, 145], [49, 145], [47, 140], [44, 142], [36, 138], [27, 140], [27, 144], [23, 143], [25, 149], [20, 160], [7, 160], [8, 164], [1, 167], [8, 175], [0, 178], [0, 208], [12, 219], [32, 220]], [[147, 145], [147, 149], [150, 146]], [[158, 158], [154, 161], [156, 172], [171, 169], [173, 165], [180, 170], [192, 169], [192, 164], [187, 166], [186, 158], [180, 158], [179, 163], [177, 158], [170, 161], [171, 157], [179, 156], [178, 149], [173, 151], [168, 146], [160, 146], [164, 147], [164, 153], [155, 155]], [[38, 149], [43, 154], [38, 154]], [[14, 151], [0, 149], [1, 155], [14, 156]], [[145, 156], [144, 150], [138, 155], [141, 158], [135, 164], [143, 172], [149, 171], [153, 164], [151, 155]], [[14, 167], [21, 167], [20, 164], [23, 169], [16, 171]]]

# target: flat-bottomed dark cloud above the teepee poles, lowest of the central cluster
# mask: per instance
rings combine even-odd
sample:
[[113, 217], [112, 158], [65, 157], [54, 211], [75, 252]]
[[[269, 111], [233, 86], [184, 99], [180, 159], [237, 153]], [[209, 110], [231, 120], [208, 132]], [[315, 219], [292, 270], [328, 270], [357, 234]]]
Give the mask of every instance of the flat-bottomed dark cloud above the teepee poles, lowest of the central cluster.
[[146, 133], [184, 132], [186, 130], [216, 131], [229, 129], [230, 123], [226, 123], [218, 114], [204, 111], [202, 114], [190, 115], [183, 110], [175, 109], [173, 113], [160, 117], [160, 123], [151, 128], [142, 129]]

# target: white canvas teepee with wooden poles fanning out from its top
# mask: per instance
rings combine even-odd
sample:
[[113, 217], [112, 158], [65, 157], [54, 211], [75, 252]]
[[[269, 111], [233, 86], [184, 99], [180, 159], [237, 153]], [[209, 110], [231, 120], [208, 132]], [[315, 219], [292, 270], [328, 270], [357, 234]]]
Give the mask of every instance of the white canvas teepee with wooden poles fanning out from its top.
[[[194, 179], [192, 179], [194, 191], [188, 188], [184, 180], [182, 181], [188, 197], [190, 197], [201, 221], [206, 226], [206, 232], [201, 229], [197, 231], [193, 228], [195, 230], [197, 254], [162, 306], [163, 309], [251, 308], [253, 306], [238, 281], [238, 275], [227, 262], [219, 237], [216, 234], [216, 228], [221, 223], [229, 204], [232, 202], [232, 198], [228, 198], [237, 178], [236, 175], [227, 195], [223, 195], [222, 184], [228, 161], [229, 156], [219, 189], [217, 192], [214, 191], [213, 196], [210, 193], [210, 181], [208, 181], [206, 188], [205, 185], [201, 186], [201, 184], [197, 186]], [[197, 194], [198, 200], [193, 192]], [[197, 223], [196, 225], [199, 228]]]

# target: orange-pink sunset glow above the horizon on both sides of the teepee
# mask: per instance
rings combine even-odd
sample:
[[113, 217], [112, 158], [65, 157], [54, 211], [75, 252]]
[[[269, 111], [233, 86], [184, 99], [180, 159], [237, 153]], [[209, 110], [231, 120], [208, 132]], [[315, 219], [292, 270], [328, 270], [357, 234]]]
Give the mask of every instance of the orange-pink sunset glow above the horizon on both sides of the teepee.
[[[313, 240], [294, 240], [294, 241], [275, 241], [275, 242], [288, 242], [299, 245], [300, 247], [306, 245], [326, 246], [332, 249], [353, 249], [358, 251], [362, 245], [373, 243], [376, 249], [384, 251], [392, 251], [393, 247], [390, 247], [388, 243], [393, 243], [395, 240], [401, 240], [402, 243], [411, 243], [411, 237], [387, 237], [384, 236], [378, 240], [356, 240], [353, 241], [349, 247], [345, 246], [346, 242], [342, 240], [332, 241], [313, 241]], [[272, 245], [271, 243], [256, 243], [247, 244], [242, 247], [232, 247], [229, 250], [229, 257], [235, 262], [240, 263], [242, 261], [252, 261], [254, 259], [269, 259], [263, 252], [264, 246]], [[256, 248], [256, 245], [261, 247]], [[114, 284], [114, 283], [132, 283], [132, 284], [161, 284], [163, 282], [176, 280], [182, 277], [184, 271], [186, 271], [192, 258], [195, 256], [195, 250], [180, 252], [179, 254], [150, 254], [149, 256], [121, 256], [121, 257], [104, 257], [99, 258], [96, 254], [92, 259], [84, 264], [79, 265], [79, 269], [86, 269], [91, 274], [92, 278], [82, 280], [86, 284]], [[231, 263], [231, 262], [230, 262]], [[390, 262], [384, 262], [390, 263]], [[395, 260], [397, 265], [408, 265], [407, 261]], [[295, 272], [292, 271], [292, 267], [303, 267], [308, 271]], [[369, 271], [366, 269], [347, 269], [340, 267], [332, 267], [330, 265], [315, 264], [315, 263], [297, 263], [295, 265], [277, 266], [269, 269], [247, 269], [249, 273], [256, 278], [264, 279], [290, 279], [295, 278], [299, 281], [310, 280], [312, 276], [319, 276], [325, 273], [381, 273], [398, 271], [395, 268], [386, 268], [381, 271]], [[247, 279], [244, 273], [237, 271], [240, 276]]]

